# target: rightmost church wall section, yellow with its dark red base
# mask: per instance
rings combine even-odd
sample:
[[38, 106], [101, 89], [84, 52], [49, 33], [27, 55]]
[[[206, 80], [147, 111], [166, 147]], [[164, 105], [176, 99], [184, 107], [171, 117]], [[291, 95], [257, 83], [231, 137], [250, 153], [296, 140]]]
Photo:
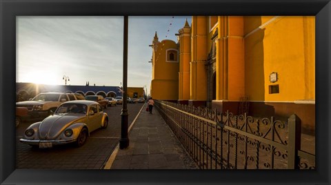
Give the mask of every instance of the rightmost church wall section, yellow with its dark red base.
[[[245, 17], [245, 34], [258, 22], [262, 29], [245, 38], [249, 114], [287, 121], [295, 113], [303, 132], [314, 133], [314, 17]], [[270, 92], [277, 85], [279, 93]]]

